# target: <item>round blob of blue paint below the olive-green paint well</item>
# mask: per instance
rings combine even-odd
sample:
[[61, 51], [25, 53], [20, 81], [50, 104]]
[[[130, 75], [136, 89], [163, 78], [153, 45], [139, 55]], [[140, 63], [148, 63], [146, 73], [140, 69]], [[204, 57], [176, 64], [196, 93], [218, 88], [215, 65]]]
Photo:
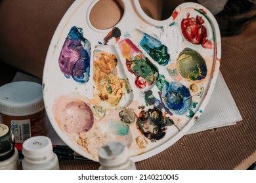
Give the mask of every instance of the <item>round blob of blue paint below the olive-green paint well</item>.
[[186, 86], [179, 82], [170, 82], [161, 90], [161, 100], [165, 107], [176, 114], [184, 114], [192, 105], [192, 97]]

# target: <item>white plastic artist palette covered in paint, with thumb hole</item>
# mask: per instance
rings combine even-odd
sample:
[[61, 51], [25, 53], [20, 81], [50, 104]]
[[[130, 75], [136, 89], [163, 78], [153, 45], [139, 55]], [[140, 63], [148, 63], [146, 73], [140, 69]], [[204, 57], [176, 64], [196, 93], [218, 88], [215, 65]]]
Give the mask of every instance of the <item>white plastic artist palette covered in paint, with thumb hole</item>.
[[54, 130], [70, 148], [98, 161], [98, 149], [121, 141], [133, 161], [177, 142], [200, 118], [221, 61], [215, 18], [183, 3], [153, 20], [139, 1], [123, 1], [110, 29], [89, 21], [97, 1], [75, 1], [47, 53], [43, 97]]

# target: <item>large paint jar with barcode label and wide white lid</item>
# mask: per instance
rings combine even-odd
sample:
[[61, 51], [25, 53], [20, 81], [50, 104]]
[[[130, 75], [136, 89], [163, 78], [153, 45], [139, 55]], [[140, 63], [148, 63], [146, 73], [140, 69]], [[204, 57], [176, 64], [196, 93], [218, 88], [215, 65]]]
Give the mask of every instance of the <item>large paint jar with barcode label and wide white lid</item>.
[[0, 87], [0, 123], [11, 127], [16, 143], [46, 135], [41, 84], [11, 82]]

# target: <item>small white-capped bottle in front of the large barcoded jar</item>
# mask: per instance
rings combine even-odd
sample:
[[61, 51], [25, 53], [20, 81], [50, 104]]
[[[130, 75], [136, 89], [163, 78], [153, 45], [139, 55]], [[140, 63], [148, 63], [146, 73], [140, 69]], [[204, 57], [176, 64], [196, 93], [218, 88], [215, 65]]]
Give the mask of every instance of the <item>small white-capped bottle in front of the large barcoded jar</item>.
[[49, 137], [37, 136], [27, 139], [22, 144], [22, 169], [24, 170], [59, 170], [58, 157], [53, 152]]

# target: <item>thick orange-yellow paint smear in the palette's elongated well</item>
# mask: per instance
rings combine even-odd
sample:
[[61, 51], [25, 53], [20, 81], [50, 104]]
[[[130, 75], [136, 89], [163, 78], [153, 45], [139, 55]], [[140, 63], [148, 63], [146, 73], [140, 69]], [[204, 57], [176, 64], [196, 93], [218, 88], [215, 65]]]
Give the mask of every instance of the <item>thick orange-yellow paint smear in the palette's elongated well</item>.
[[[94, 58], [95, 101], [104, 108], [118, 107], [122, 97], [130, 90], [127, 81], [117, 76], [117, 58], [101, 50], [95, 50]], [[107, 106], [102, 106], [103, 103]]]

